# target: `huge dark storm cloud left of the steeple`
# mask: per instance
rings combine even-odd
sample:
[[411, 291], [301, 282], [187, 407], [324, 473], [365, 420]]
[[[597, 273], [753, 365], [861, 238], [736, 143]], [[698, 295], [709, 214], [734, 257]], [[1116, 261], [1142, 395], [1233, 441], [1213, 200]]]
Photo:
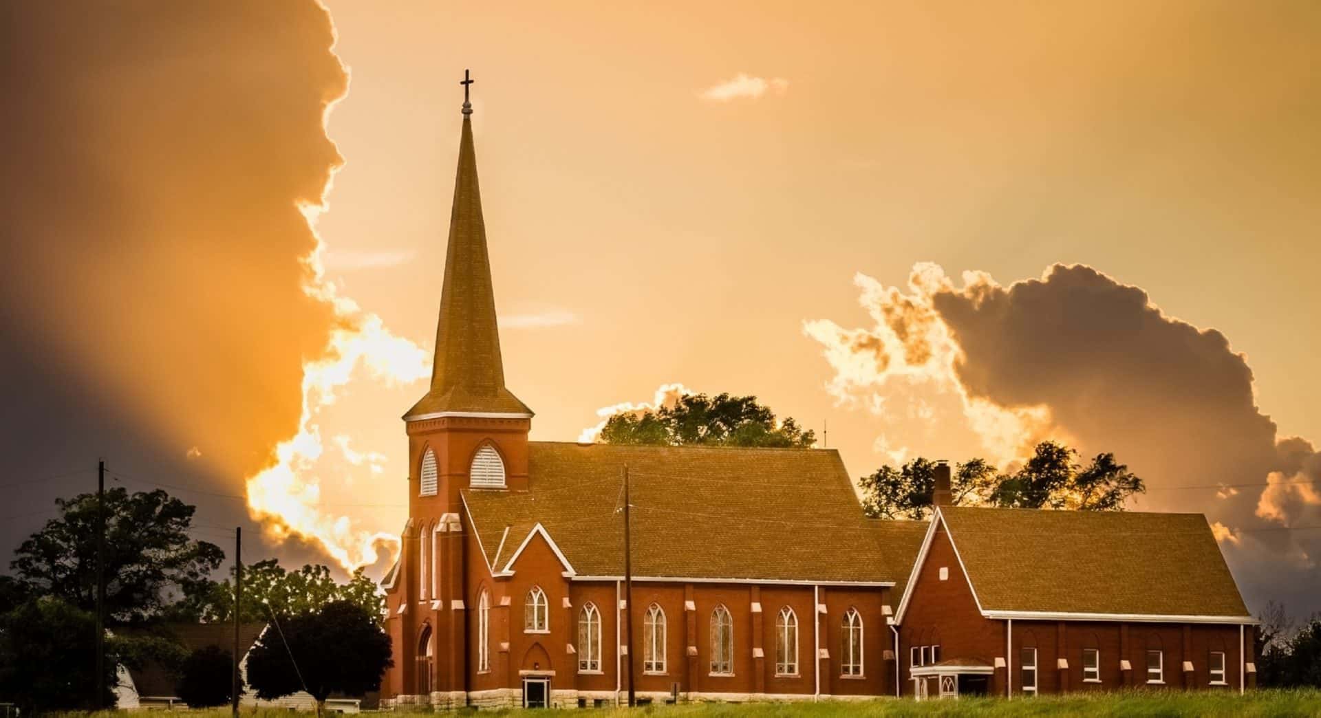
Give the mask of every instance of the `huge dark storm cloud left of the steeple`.
[[[33, 479], [106, 455], [242, 495], [297, 430], [334, 321], [300, 259], [300, 206], [341, 162], [333, 41], [313, 1], [0, 7], [0, 515], [22, 515], [0, 550], [94, 476]], [[246, 523], [240, 500], [178, 495]]]

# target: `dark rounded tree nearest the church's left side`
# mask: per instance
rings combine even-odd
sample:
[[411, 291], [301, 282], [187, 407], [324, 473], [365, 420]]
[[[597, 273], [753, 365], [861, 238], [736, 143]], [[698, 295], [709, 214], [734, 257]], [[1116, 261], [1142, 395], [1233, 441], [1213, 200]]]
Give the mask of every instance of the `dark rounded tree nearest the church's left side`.
[[378, 615], [347, 601], [281, 620], [248, 653], [248, 685], [263, 700], [306, 690], [317, 700], [318, 713], [332, 693], [362, 696], [379, 690], [394, 659], [390, 636], [378, 620]]

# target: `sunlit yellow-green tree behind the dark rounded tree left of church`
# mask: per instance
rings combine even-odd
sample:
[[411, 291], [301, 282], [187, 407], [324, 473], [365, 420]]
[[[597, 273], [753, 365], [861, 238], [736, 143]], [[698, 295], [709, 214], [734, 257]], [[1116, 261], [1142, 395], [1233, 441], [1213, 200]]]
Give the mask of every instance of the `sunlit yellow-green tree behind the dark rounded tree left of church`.
[[[353, 571], [347, 583], [336, 583], [328, 566], [305, 565], [289, 571], [269, 558], [243, 568], [239, 620], [267, 622], [272, 612], [281, 619], [308, 615], [334, 601], [347, 601], [376, 616], [378, 622], [386, 608], [386, 597], [376, 591], [376, 582], [362, 569]], [[173, 618], [206, 623], [234, 620], [231, 579], [210, 582], [198, 595], [181, 602]]]

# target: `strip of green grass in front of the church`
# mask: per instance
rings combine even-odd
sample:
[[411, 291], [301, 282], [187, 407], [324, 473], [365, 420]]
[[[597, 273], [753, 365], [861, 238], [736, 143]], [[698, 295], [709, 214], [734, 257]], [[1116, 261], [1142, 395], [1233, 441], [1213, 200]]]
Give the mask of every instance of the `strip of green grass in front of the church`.
[[[184, 711], [189, 718], [227, 718], [226, 710]], [[69, 718], [123, 718], [123, 713], [69, 713]], [[246, 718], [293, 718], [287, 710], [243, 711]], [[310, 715], [310, 714], [301, 714]], [[399, 714], [407, 715], [407, 714]], [[1226, 693], [1114, 693], [1040, 697], [1007, 701], [1003, 698], [964, 698], [959, 701], [880, 700], [872, 702], [795, 702], [795, 703], [703, 703], [683, 706], [647, 706], [602, 710], [501, 710], [482, 711], [480, 715], [614, 718], [624, 715], [657, 718], [789, 718], [852, 717], [852, 715], [1136, 715], [1136, 717], [1264, 717], [1316, 715], [1321, 717], [1321, 690], [1259, 690], [1247, 696]]]

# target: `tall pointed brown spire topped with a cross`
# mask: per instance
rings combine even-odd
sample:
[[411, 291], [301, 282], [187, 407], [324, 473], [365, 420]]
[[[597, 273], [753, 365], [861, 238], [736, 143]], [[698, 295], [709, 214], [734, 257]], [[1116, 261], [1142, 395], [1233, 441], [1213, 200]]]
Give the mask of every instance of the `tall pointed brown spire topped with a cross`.
[[519, 414], [531, 409], [505, 388], [495, 323], [495, 293], [491, 289], [486, 224], [477, 186], [477, 154], [473, 150], [472, 104], [468, 102], [468, 71], [464, 71], [464, 129], [458, 141], [458, 172], [449, 215], [449, 247], [445, 252], [445, 285], [440, 294], [436, 326], [436, 360], [431, 391], [404, 420], [437, 414]]

